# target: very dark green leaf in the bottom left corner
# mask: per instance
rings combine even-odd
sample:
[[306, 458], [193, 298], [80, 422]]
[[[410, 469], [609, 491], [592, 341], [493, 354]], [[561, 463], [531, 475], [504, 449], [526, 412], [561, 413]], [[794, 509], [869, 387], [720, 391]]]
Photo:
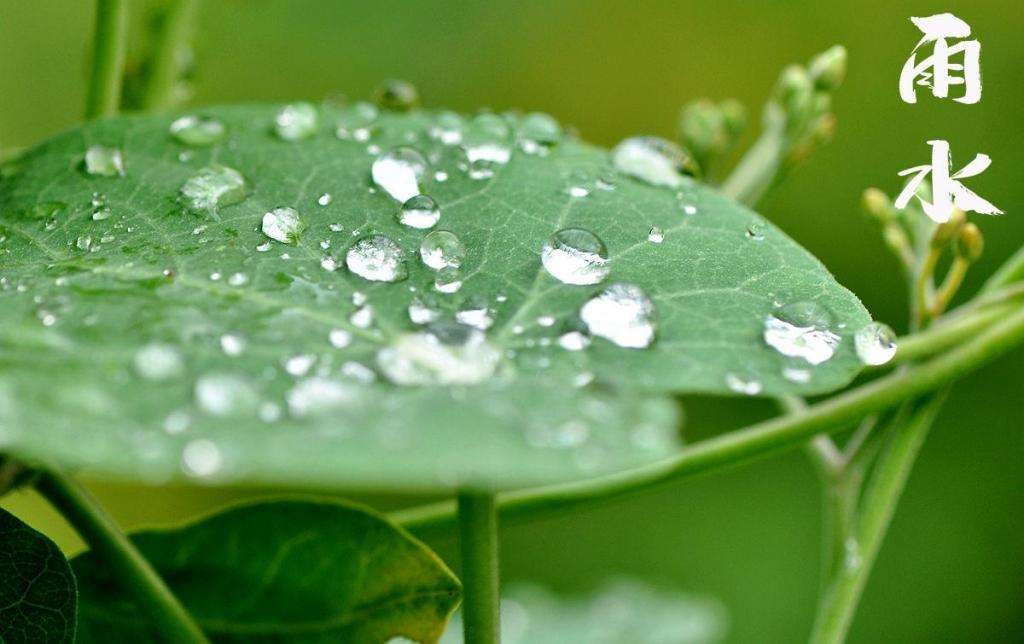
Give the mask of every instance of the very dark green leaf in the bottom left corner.
[[60, 549], [0, 510], [0, 642], [74, 642], [76, 601]]

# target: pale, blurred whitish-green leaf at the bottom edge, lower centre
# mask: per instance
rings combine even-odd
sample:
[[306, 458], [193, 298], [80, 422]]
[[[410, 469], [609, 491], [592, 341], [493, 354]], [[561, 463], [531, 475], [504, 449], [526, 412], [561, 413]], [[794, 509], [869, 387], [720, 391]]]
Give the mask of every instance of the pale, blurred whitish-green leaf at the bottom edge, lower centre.
[[[503, 644], [712, 644], [722, 641], [725, 632], [719, 602], [633, 579], [562, 597], [531, 584], [512, 584], [502, 599]], [[462, 642], [457, 612], [441, 644]]]

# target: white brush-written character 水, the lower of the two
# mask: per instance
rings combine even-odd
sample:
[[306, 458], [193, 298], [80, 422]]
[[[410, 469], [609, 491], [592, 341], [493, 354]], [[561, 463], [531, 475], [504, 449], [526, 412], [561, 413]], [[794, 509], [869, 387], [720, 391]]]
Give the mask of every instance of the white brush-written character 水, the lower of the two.
[[[907, 168], [899, 173], [901, 177], [914, 176], [907, 181], [903, 191], [896, 198], [895, 206], [898, 210], [906, 208], [910, 198], [916, 197], [925, 214], [938, 223], [949, 221], [954, 207], [964, 212], [976, 212], [982, 215], [1002, 214], [1001, 210], [969, 190], [957, 180], [977, 176], [984, 172], [985, 168], [992, 163], [988, 155], [975, 155], [974, 161], [950, 174], [949, 166], [952, 165], [952, 160], [949, 157], [949, 143], [943, 140], [934, 140], [928, 141], [928, 144], [932, 146], [932, 165]], [[928, 177], [929, 173], [932, 175], [931, 203], [916, 194], [918, 187], [921, 186], [922, 181]]]

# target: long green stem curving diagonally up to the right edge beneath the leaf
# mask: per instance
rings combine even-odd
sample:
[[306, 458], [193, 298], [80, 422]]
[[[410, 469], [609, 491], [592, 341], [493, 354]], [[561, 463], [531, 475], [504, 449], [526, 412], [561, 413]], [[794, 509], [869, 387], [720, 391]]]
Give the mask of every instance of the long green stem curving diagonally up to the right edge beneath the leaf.
[[[1006, 353], [1024, 340], [1024, 308], [1015, 310], [975, 338], [903, 372], [890, 374], [833, 398], [728, 434], [716, 436], [656, 463], [599, 478], [499, 496], [503, 520], [605, 502], [683, 476], [701, 474], [793, 447], [814, 434], [836, 432], [859, 420], [939, 389]], [[453, 504], [397, 512], [392, 518], [423, 533], [449, 528]]]

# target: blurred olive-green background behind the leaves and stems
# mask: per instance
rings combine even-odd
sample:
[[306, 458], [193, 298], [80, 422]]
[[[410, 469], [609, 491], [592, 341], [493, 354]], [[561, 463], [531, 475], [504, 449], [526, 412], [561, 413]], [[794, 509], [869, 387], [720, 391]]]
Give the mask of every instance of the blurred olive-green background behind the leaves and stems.
[[[29, 145], [80, 119], [91, 2], [0, 0], [0, 146]], [[153, 2], [132, 2], [138, 52]], [[902, 328], [902, 281], [861, 190], [898, 185], [945, 138], [959, 167], [992, 166], [970, 185], [1007, 215], [975, 220], [985, 259], [971, 293], [1024, 240], [1024, 3], [498, 1], [202, 2], [193, 104], [344, 93], [414, 82], [430, 106], [548, 112], [584, 138], [672, 136], [685, 101], [735, 96], [758, 114], [778, 70], [834, 43], [850, 51], [835, 140], [760, 210], [821, 258], [880, 319]], [[922, 93], [900, 102], [899, 71], [920, 34], [907, 19], [952, 11], [982, 42], [984, 95], [961, 105]], [[755, 118], [756, 121], [756, 118]], [[854, 642], [1024, 641], [1024, 352], [964, 380], [910, 478], [853, 627]], [[771, 413], [692, 400], [692, 438]], [[125, 526], [189, 516], [253, 490], [93, 490]], [[409, 500], [373, 499], [378, 507]], [[71, 552], [80, 543], [38, 499], [3, 500]], [[734, 642], [799, 642], [818, 582], [819, 498], [800, 454], [688, 480], [504, 534], [507, 579], [586, 590], [610, 574], [722, 600]], [[453, 544], [433, 544], [455, 560]]]

